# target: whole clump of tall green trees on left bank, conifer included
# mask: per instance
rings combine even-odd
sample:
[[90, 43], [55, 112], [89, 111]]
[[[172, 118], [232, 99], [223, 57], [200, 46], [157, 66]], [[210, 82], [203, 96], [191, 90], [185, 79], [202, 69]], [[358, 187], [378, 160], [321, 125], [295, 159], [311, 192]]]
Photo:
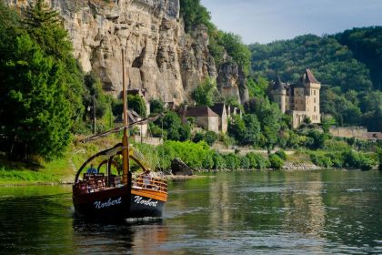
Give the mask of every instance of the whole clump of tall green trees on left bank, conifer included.
[[65, 29], [42, 3], [30, 5], [22, 23], [0, 4], [0, 149], [15, 159], [62, 155], [83, 117], [82, 72]]

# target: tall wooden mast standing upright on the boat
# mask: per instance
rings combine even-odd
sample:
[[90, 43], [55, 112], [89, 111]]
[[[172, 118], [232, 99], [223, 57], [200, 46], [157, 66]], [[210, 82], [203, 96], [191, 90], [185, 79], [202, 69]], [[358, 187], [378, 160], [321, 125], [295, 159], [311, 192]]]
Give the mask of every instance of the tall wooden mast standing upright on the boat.
[[123, 183], [127, 184], [128, 181], [128, 172], [130, 168], [129, 164], [129, 144], [128, 144], [128, 117], [127, 117], [127, 89], [126, 89], [126, 73], [125, 73], [125, 50], [122, 48], [122, 93], [124, 100], [124, 137], [122, 138], [122, 158], [123, 158]]

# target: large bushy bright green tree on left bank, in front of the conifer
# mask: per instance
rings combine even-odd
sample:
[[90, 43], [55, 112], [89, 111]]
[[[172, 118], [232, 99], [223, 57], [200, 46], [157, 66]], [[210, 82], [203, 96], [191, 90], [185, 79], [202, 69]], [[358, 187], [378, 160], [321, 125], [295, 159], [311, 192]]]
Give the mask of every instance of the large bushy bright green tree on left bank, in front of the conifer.
[[60, 82], [65, 66], [45, 56], [25, 34], [15, 37], [9, 50], [12, 56], [0, 60], [5, 153], [13, 159], [61, 156], [72, 127], [66, 88]]

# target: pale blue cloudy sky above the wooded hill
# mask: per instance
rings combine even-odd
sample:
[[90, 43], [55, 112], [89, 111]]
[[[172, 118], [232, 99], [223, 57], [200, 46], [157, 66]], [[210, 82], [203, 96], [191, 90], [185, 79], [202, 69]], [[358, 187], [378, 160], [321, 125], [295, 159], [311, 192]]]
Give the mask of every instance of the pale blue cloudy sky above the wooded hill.
[[382, 0], [201, 0], [221, 30], [243, 42], [270, 43], [382, 26]]

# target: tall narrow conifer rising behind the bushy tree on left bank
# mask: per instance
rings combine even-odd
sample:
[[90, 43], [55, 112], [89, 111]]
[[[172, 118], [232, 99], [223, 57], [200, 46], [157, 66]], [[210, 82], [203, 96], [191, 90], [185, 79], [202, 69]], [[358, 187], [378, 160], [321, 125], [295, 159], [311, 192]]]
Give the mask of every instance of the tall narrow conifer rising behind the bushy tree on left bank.
[[85, 111], [84, 75], [73, 57], [72, 45], [59, 14], [45, 5], [43, 0], [31, 2], [24, 14], [23, 23], [29, 36], [46, 56], [52, 56], [58, 65], [64, 67], [64, 74], [59, 77], [60, 83], [66, 88], [65, 97], [70, 103], [74, 120], [73, 131], [81, 130]]

